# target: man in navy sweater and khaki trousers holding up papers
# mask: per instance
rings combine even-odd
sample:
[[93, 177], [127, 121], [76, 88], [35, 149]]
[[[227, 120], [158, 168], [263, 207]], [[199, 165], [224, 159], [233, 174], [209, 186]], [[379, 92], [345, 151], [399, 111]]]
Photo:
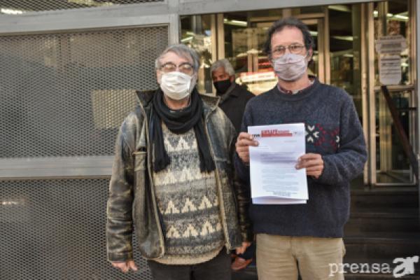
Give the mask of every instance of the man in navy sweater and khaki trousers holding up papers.
[[[251, 125], [304, 123], [307, 204], [251, 204], [256, 233], [258, 279], [344, 279], [332, 274], [344, 256], [343, 228], [349, 218], [349, 182], [363, 172], [367, 153], [363, 130], [349, 94], [309, 76], [314, 40], [300, 20], [285, 18], [268, 31], [265, 52], [277, 85], [248, 102], [237, 139], [235, 166], [249, 182]], [[281, 186], [277, 186], [281, 189]]]

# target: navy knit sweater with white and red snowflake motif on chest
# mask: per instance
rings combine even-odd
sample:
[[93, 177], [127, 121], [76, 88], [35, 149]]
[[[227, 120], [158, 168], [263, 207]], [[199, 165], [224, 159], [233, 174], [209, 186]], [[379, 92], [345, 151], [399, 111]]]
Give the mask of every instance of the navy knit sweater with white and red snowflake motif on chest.
[[[367, 158], [363, 130], [349, 94], [314, 83], [297, 94], [274, 87], [251, 99], [242, 131], [250, 125], [304, 123], [306, 152], [324, 161], [319, 179], [308, 176], [307, 204], [251, 204], [255, 233], [285, 236], [342, 237], [349, 218], [351, 179], [363, 172]], [[249, 168], [237, 157], [235, 166], [249, 182]]]

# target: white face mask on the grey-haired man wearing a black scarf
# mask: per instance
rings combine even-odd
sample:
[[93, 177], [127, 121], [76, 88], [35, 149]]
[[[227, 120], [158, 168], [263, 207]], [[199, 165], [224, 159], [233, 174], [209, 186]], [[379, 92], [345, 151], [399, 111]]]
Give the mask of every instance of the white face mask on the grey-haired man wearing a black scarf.
[[170, 99], [181, 100], [188, 97], [188, 95], [193, 92], [196, 82], [196, 75], [188, 76], [179, 71], [173, 71], [162, 74], [162, 78], [160, 78], [160, 88]]

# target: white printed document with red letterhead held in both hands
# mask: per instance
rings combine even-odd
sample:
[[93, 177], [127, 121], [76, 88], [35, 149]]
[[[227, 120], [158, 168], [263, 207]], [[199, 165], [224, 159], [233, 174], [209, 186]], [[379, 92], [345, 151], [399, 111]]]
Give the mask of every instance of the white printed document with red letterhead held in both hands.
[[259, 143], [249, 147], [253, 203], [306, 203], [306, 170], [295, 168], [305, 153], [304, 124], [253, 126], [248, 133]]

